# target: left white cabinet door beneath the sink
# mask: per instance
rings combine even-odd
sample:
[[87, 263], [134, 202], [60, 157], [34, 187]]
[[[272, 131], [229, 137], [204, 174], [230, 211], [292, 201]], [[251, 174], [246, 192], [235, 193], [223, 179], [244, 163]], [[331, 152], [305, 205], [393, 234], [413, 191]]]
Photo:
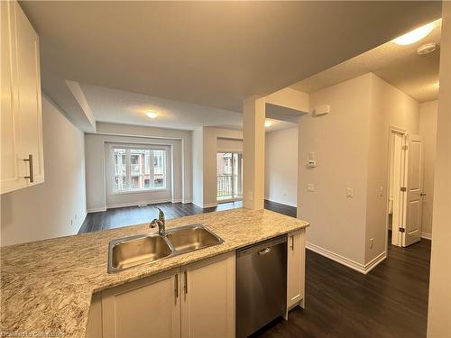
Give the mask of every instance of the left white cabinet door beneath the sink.
[[179, 338], [178, 271], [103, 291], [103, 338]]

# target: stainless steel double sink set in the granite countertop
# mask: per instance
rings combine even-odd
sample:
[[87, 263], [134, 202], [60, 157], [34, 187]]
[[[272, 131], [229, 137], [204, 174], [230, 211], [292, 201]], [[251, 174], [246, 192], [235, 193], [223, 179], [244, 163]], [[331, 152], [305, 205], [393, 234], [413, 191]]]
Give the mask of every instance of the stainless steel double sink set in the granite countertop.
[[202, 224], [171, 228], [160, 234], [135, 235], [111, 241], [108, 249], [108, 273], [148, 264], [166, 257], [204, 249], [224, 242]]

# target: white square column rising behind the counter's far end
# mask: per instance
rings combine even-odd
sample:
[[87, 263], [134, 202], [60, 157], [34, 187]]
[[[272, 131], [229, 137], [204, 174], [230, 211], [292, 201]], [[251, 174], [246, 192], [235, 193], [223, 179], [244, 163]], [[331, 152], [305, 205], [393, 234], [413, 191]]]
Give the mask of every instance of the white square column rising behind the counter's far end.
[[243, 206], [264, 207], [264, 117], [265, 100], [248, 97], [243, 104]]

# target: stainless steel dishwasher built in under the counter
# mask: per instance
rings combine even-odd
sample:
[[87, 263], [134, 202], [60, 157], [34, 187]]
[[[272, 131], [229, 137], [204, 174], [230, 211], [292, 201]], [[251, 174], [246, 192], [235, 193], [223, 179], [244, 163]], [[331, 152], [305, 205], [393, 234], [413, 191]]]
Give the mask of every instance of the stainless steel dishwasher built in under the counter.
[[236, 251], [236, 338], [247, 337], [287, 304], [287, 236]]

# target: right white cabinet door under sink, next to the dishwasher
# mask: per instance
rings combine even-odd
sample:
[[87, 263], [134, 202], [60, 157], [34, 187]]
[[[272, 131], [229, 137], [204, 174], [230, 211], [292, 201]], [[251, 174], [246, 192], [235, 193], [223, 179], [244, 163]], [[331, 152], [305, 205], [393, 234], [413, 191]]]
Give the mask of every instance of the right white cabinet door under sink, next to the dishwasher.
[[235, 252], [180, 271], [182, 338], [235, 336]]

